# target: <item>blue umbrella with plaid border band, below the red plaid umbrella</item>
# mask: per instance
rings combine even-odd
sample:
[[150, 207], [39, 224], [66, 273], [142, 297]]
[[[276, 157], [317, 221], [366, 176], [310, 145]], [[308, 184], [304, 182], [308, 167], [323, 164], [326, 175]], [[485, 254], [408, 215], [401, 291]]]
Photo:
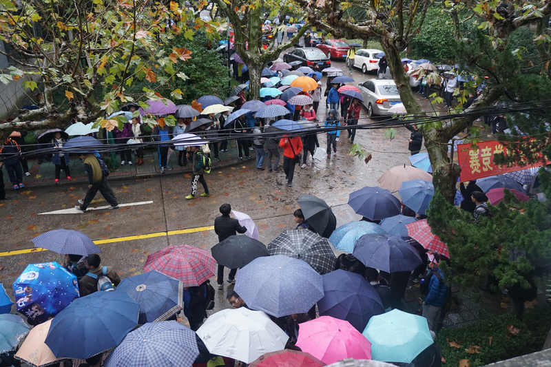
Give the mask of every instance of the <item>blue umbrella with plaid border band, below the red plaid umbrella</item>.
[[183, 283], [158, 271], [125, 277], [115, 292], [128, 293], [140, 305], [140, 325], [165, 321], [184, 308]]

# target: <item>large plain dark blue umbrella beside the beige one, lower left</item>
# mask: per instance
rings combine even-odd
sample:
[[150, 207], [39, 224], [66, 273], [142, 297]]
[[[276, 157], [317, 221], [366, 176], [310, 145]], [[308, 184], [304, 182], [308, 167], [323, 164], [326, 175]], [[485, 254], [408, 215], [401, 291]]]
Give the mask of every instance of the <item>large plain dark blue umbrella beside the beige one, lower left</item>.
[[138, 325], [140, 306], [125, 292], [95, 292], [52, 319], [45, 343], [58, 358], [90, 358], [120, 344]]

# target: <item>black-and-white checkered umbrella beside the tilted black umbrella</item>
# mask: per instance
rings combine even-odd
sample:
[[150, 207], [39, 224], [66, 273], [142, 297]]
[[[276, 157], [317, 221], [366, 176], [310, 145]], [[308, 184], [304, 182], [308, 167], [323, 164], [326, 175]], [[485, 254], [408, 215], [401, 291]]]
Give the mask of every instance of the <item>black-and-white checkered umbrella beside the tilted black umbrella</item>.
[[304, 260], [322, 275], [335, 269], [336, 258], [329, 240], [308, 229], [284, 231], [268, 244], [268, 253]]

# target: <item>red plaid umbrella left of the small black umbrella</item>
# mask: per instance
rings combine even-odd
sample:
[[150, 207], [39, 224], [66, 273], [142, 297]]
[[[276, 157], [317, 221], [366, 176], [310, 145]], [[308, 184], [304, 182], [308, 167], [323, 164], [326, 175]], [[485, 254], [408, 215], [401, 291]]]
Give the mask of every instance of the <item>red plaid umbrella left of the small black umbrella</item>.
[[147, 256], [143, 271], [160, 271], [180, 280], [184, 286], [198, 286], [214, 276], [215, 266], [216, 260], [207, 250], [182, 244]]

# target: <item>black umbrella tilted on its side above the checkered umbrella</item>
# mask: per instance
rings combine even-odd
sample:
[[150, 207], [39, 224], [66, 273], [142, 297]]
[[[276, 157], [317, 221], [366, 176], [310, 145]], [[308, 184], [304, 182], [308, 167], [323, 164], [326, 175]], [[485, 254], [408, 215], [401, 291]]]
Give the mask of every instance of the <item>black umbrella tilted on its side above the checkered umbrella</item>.
[[337, 228], [337, 218], [325, 200], [309, 193], [301, 193], [298, 205], [304, 219], [324, 238], [329, 238]]

